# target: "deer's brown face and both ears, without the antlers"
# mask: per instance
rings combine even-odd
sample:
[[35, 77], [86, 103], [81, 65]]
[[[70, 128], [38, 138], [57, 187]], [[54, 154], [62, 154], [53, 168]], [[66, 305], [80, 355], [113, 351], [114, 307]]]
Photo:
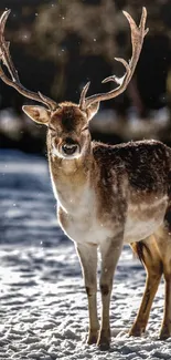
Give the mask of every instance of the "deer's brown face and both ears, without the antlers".
[[47, 146], [52, 154], [64, 158], [79, 157], [88, 147], [88, 122], [98, 111], [98, 104], [87, 110], [71, 102], [50, 111], [44, 106], [24, 105], [23, 111], [35, 122], [47, 126]]

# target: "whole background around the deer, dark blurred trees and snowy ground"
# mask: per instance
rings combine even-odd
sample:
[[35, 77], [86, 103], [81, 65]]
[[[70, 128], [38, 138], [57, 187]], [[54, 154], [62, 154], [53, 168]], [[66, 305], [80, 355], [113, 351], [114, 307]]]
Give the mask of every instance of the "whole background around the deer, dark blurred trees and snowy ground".
[[[88, 95], [109, 91], [115, 84], [101, 80], [125, 72], [114, 58], [131, 56], [122, 10], [138, 23], [142, 6], [150, 32], [135, 75], [124, 94], [101, 102], [92, 136], [110, 144], [153, 137], [171, 145], [169, 0], [0, 0], [0, 14], [12, 10], [6, 39], [21, 83], [57, 102], [78, 103], [87, 81]], [[0, 80], [0, 359], [101, 359], [95, 347], [82, 346], [87, 300], [81, 267], [73, 243], [57, 226], [44, 158], [46, 128], [22, 113], [29, 103]], [[143, 284], [141, 264], [126, 246], [111, 307], [121, 335], [135, 319]], [[156, 341], [162, 298], [163, 287], [151, 316], [154, 337], [135, 343], [124, 336], [106, 359], [171, 359], [170, 342]]]

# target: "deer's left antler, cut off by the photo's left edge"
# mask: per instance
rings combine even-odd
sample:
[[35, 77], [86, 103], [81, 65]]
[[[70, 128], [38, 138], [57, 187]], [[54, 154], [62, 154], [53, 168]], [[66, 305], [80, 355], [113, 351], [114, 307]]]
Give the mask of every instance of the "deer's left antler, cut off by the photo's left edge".
[[2, 62], [3, 65], [6, 65], [12, 79], [9, 79], [6, 75], [1, 65], [0, 65], [0, 78], [6, 84], [14, 88], [19, 93], [21, 93], [25, 97], [41, 102], [45, 104], [51, 111], [53, 111], [57, 107], [57, 103], [55, 101], [40, 93], [35, 93], [28, 90], [20, 82], [18, 71], [15, 70], [12, 59], [10, 56], [10, 52], [9, 52], [10, 43], [4, 40], [4, 35], [3, 35], [6, 22], [10, 12], [11, 10], [4, 11], [0, 18], [0, 62]]

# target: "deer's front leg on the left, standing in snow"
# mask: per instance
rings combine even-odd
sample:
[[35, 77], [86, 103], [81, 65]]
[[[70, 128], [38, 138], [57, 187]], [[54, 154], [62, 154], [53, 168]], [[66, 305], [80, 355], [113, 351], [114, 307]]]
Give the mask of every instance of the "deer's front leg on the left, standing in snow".
[[99, 322], [97, 317], [97, 246], [96, 245], [77, 245], [85, 288], [88, 298], [89, 311], [89, 333], [87, 343], [96, 343], [98, 338]]

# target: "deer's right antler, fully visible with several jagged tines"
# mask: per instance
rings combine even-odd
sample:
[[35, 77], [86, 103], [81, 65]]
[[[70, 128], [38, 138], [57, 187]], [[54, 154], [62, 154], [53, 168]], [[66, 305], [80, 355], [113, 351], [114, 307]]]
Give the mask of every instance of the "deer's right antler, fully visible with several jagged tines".
[[147, 10], [146, 8], [142, 8], [142, 14], [141, 14], [141, 20], [139, 27], [137, 27], [135, 20], [131, 18], [131, 16], [122, 11], [125, 17], [127, 18], [129, 25], [130, 25], [130, 31], [131, 31], [131, 44], [132, 44], [132, 55], [129, 61], [129, 63], [120, 58], [115, 58], [116, 61], [119, 61], [122, 63], [122, 65], [126, 68], [126, 73], [124, 74], [122, 78], [117, 78], [116, 75], [111, 75], [103, 80], [103, 83], [106, 83], [108, 81], [114, 81], [116, 82], [119, 86], [116, 88], [115, 90], [109, 91], [108, 93], [101, 93], [101, 94], [95, 94], [88, 97], [85, 97], [86, 92], [82, 92], [81, 99], [82, 99], [82, 105], [84, 109], [88, 107], [90, 104], [95, 102], [100, 102], [104, 100], [109, 100], [118, 96], [121, 94], [129, 81], [132, 78], [132, 74], [135, 72], [141, 49], [142, 49], [142, 43], [143, 43], [143, 38], [148, 33], [149, 29], [145, 29], [146, 25], [146, 19], [147, 19]]

